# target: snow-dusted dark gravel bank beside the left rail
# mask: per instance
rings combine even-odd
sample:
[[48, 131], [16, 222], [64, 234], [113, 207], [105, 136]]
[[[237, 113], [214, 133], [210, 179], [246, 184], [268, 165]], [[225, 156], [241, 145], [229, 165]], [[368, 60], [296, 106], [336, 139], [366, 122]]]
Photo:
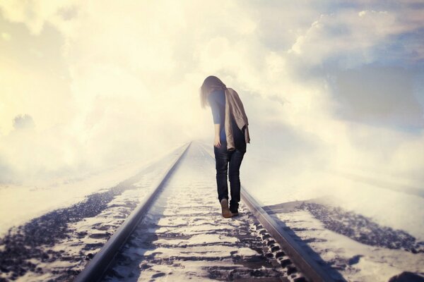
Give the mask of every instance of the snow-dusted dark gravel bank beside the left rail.
[[[139, 202], [158, 184], [187, 144], [69, 207], [11, 228], [0, 238], [0, 281], [69, 281]], [[73, 199], [76, 200], [76, 199]]]

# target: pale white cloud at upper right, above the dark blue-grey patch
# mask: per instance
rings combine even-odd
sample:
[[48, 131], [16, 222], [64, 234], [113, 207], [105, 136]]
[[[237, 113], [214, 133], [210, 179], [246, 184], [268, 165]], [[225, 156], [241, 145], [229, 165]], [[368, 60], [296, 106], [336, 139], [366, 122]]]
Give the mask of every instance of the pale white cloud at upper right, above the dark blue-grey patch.
[[342, 56], [343, 67], [352, 68], [372, 63], [377, 58], [371, 49], [392, 35], [411, 32], [423, 25], [411, 25], [396, 11], [347, 10], [322, 14], [310, 28], [298, 36], [288, 50], [308, 64]]

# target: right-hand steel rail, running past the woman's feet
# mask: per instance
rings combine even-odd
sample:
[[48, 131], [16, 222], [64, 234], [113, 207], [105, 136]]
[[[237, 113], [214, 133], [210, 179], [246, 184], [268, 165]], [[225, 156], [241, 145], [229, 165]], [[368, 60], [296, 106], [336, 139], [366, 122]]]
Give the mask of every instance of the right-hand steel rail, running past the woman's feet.
[[[213, 159], [215, 157], [208, 152], [208, 149], [201, 145], [203, 149]], [[276, 223], [271, 216], [262, 209], [261, 204], [252, 196], [250, 193], [241, 186], [240, 197], [243, 202], [247, 205], [250, 212], [258, 219], [258, 221], [264, 226], [266, 231], [273, 237], [278, 244], [281, 245], [283, 251], [290, 257], [295, 266], [298, 266], [302, 274], [312, 282], [333, 282], [336, 281], [330, 276], [321, 266], [312, 258], [310, 255], [302, 249], [302, 247], [295, 242], [295, 240], [284, 231], [283, 226]]]

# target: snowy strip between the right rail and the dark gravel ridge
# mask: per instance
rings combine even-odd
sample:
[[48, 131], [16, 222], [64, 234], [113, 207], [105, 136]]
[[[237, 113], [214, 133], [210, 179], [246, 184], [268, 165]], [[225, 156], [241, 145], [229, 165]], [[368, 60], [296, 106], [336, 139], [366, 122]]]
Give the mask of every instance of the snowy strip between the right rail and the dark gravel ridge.
[[329, 230], [305, 209], [293, 209], [274, 216], [285, 223], [303, 245], [312, 248], [348, 281], [387, 282], [404, 271], [423, 273], [424, 250], [413, 253], [359, 243], [347, 235]]

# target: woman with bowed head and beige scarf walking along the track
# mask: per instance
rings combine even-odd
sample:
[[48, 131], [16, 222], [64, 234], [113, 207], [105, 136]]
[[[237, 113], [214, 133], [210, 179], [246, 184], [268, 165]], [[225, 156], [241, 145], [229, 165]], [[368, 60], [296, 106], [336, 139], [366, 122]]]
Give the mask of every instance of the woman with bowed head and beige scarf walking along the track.
[[[211, 106], [215, 125], [213, 151], [216, 161], [218, 201], [223, 217], [236, 216], [240, 202], [240, 165], [246, 152], [246, 143], [249, 142], [247, 116], [237, 92], [227, 88], [216, 76], [211, 75], [204, 80], [200, 88], [200, 97], [202, 108], [206, 105]], [[226, 103], [229, 104], [227, 109]], [[225, 123], [225, 110], [230, 113], [227, 123]], [[228, 207], [227, 172], [231, 188], [230, 207]]]

